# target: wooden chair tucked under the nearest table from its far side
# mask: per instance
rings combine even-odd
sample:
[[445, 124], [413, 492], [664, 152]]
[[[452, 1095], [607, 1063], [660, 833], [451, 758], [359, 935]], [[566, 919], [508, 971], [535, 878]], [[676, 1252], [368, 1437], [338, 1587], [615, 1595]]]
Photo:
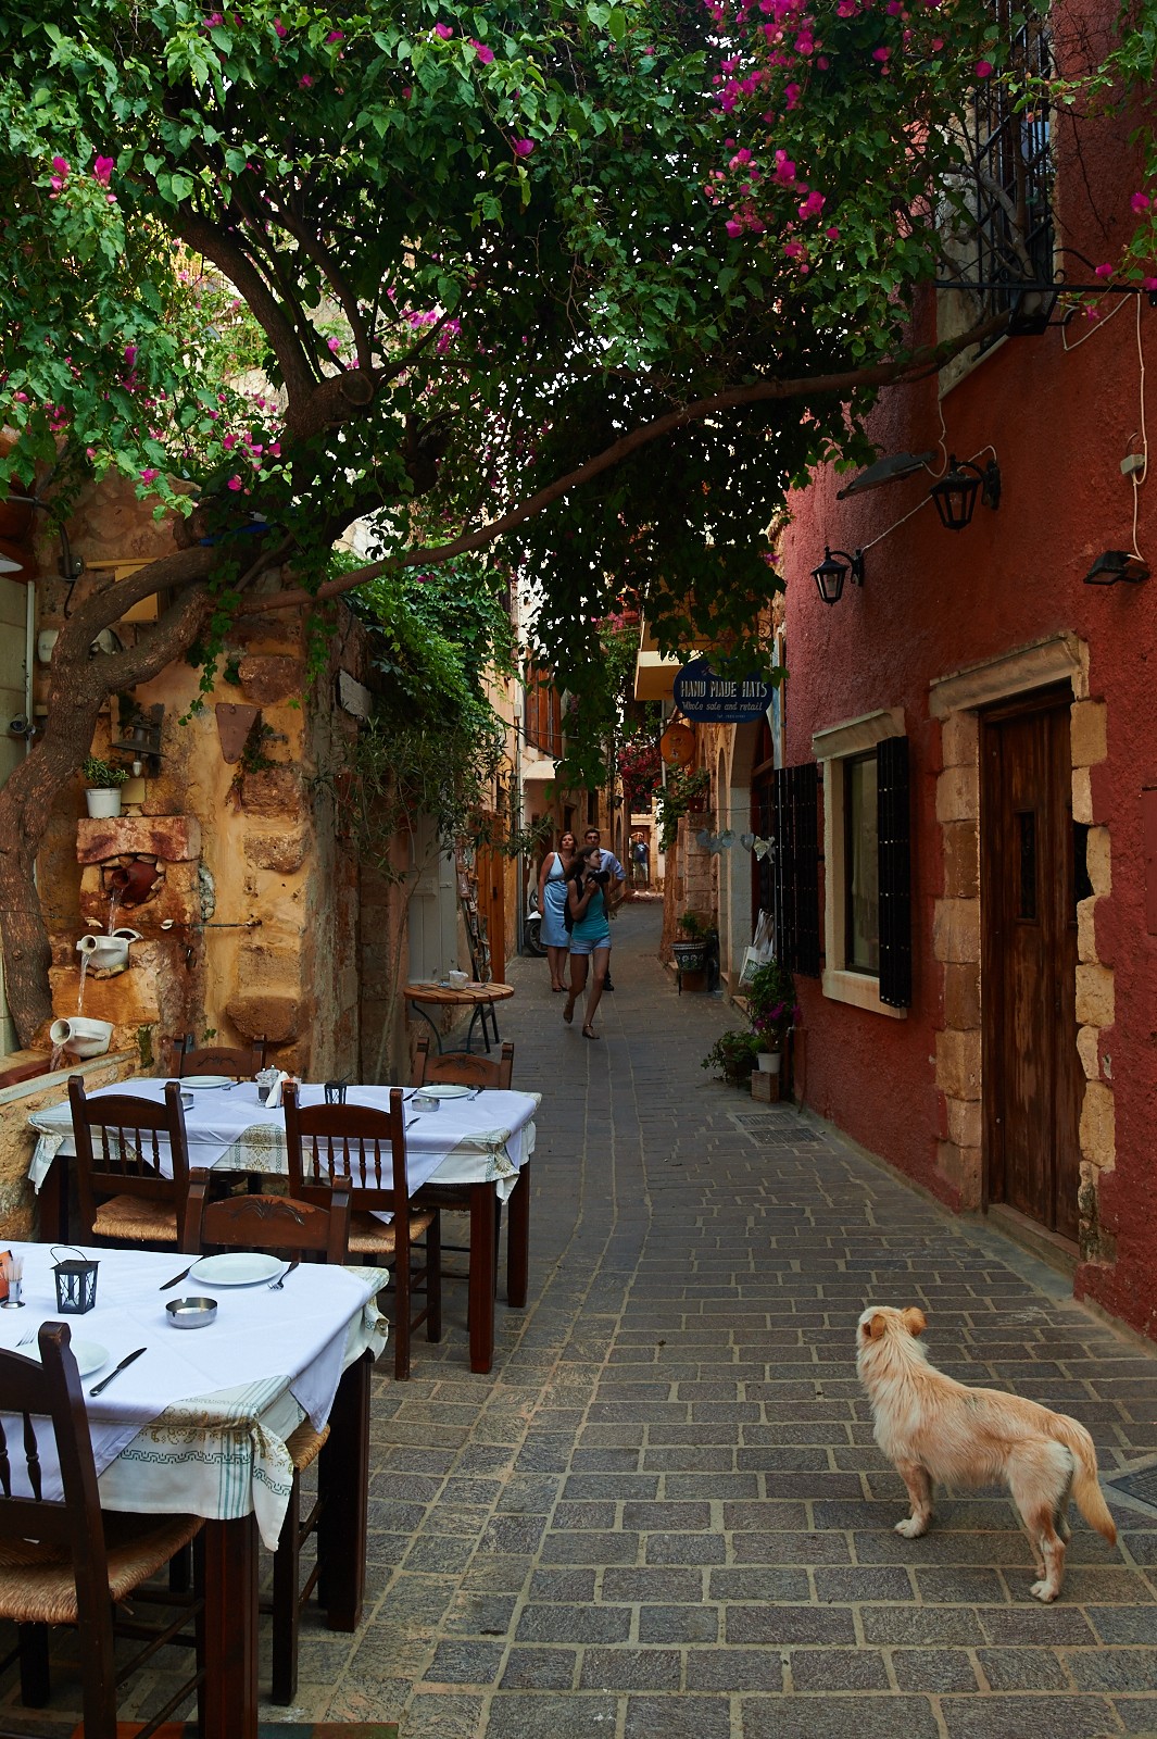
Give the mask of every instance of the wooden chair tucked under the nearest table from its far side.
[[[314, 1256], [344, 1263], [349, 1243], [349, 1179], [335, 1177], [325, 1207], [290, 1196], [250, 1195], [208, 1198], [210, 1174], [195, 1170], [189, 1179], [189, 1212], [184, 1249], [200, 1256], [205, 1245], [231, 1250], [276, 1250], [280, 1256]], [[297, 1638], [301, 1614], [323, 1572], [321, 1553], [302, 1584], [301, 1558], [309, 1536], [318, 1530], [323, 1501], [316, 1497], [302, 1516], [301, 1476], [321, 1454], [328, 1424], [314, 1431], [307, 1419], [285, 1440], [294, 1462], [294, 1485], [273, 1556], [273, 1600], [262, 1612], [273, 1616], [271, 1701], [287, 1704], [297, 1696]]]

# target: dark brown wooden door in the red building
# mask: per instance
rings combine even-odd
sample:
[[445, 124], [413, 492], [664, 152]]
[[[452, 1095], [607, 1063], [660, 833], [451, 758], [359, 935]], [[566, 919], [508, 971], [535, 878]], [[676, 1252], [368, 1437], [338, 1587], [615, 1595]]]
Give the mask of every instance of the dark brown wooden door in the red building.
[[[1077, 885], [1068, 690], [982, 720], [985, 1196], [1077, 1236]], [[1082, 856], [1082, 854], [1081, 854]]]

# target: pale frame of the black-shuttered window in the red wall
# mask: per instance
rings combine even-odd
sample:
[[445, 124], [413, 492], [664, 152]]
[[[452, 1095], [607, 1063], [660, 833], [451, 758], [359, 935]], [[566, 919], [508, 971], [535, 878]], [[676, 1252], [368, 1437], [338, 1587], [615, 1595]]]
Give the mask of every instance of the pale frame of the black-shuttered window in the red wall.
[[[827, 725], [811, 737], [811, 753], [823, 769], [823, 958], [820, 979], [830, 1002], [850, 1002], [872, 1014], [886, 1014], [889, 1021], [907, 1021], [907, 1009], [893, 1009], [879, 998], [879, 976], [856, 972], [843, 965], [848, 958], [848, 854], [846, 854], [846, 796], [844, 762], [867, 755], [886, 737], [905, 736], [903, 708], [862, 713], [839, 725]], [[836, 965], [834, 962], [841, 962]]]

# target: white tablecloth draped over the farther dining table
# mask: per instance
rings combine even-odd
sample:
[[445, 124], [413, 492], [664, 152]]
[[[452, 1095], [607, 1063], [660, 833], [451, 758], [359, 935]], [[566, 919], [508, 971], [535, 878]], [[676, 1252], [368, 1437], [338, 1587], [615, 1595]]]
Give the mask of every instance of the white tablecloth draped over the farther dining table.
[[[134, 1076], [101, 1087], [92, 1099], [129, 1092], [155, 1103], [165, 1097], [165, 1082]], [[269, 1111], [257, 1099], [252, 1082], [233, 1087], [182, 1083], [189, 1163], [221, 1165], [224, 1170], [285, 1174], [285, 1111]], [[407, 1089], [410, 1094], [410, 1089]], [[320, 1104], [325, 1089], [304, 1085], [302, 1104]], [[349, 1087], [347, 1104], [389, 1109], [389, 1087]], [[519, 1169], [535, 1149], [533, 1116], [540, 1094], [488, 1089], [474, 1099], [445, 1099], [438, 1109], [419, 1109], [407, 1097], [407, 1174], [410, 1195], [424, 1183], [493, 1183], [506, 1202]], [[68, 1101], [33, 1111], [38, 1134], [28, 1176], [40, 1189], [57, 1153], [73, 1153], [73, 1123]], [[162, 1167], [165, 1163], [162, 1146]]]

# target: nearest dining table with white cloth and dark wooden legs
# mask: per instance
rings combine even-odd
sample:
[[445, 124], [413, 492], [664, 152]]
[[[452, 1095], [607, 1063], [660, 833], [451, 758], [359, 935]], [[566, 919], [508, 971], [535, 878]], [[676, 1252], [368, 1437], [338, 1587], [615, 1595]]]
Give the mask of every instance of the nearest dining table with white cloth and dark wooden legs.
[[[83, 1343], [106, 1355], [82, 1377], [101, 1508], [205, 1518], [205, 1739], [257, 1739], [257, 1541], [276, 1546], [294, 1478], [285, 1440], [306, 1417], [314, 1429], [330, 1426], [318, 1461], [327, 1621], [351, 1631], [361, 1617], [370, 1363], [386, 1344], [374, 1303], [382, 1271], [302, 1263], [281, 1290], [202, 1280], [195, 1290], [217, 1299], [217, 1320], [179, 1332], [165, 1301], [182, 1289], [158, 1289], [188, 1257], [89, 1249], [99, 1264], [96, 1308], [63, 1316], [50, 1250], [10, 1249], [24, 1261], [26, 1308], [0, 1311], [0, 1346], [14, 1351], [26, 1334], [35, 1341], [42, 1322], [66, 1322], [78, 1362]], [[92, 1396], [92, 1384], [139, 1346], [144, 1355]], [[31, 1344], [19, 1349], [31, 1353]], [[9, 1442], [19, 1431], [5, 1421]], [[36, 1436], [43, 1494], [57, 1497], [47, 1423]], [[17, 1496], [26, 1478], [14, 1456]]]

